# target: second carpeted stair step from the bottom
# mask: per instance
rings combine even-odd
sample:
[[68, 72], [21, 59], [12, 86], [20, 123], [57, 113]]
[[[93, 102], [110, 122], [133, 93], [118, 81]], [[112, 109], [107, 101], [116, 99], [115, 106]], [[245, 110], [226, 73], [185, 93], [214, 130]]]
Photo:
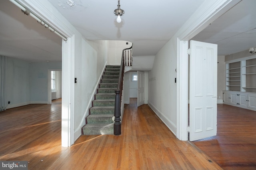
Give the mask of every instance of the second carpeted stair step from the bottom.
[[114, 123], [113, 114], [98, 114], [88, 115], [86, 117], [87, 123]]

